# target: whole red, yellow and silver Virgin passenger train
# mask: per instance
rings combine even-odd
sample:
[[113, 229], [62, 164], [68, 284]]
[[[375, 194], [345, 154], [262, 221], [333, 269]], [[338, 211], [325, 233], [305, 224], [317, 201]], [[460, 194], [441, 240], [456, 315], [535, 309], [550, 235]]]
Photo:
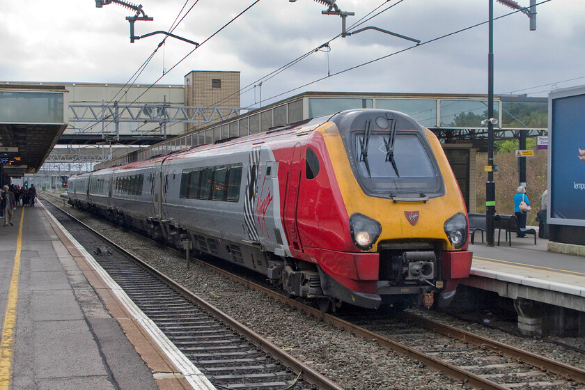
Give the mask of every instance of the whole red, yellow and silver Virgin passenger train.
[[430, 130], [355, 109], [72, 176], [70, 203], [342, 302], [448, 304], [469, 276], [465, 203]]

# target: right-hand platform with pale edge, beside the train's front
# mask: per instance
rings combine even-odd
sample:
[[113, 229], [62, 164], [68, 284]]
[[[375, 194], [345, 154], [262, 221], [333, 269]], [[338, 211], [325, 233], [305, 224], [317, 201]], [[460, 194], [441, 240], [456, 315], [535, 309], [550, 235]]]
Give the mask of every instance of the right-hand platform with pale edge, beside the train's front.
[[535, 245], [532, 236], [494, 247], [476, 237], [469, 245], [474, 253], [471, 275], [461, 283], [514, 299], [525, 334], [583, 335], [585, 257], [551, 248], [557, 246], [538, 237]]

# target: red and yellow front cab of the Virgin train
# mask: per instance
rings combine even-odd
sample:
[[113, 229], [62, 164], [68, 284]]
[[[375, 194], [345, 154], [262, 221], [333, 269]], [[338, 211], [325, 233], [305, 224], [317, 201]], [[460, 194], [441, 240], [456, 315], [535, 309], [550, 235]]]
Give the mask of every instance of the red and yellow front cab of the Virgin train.
[[[469, 276], [471, 252], [465, 203], [439, 141], [400, 113], [340, 118], [311, 134], [300, 164], [299, 240], [323, 292], [370, 308], [431, 306], [435, 296], [446, 306]], [[319, 164], [325, 175], [311, 178]]]

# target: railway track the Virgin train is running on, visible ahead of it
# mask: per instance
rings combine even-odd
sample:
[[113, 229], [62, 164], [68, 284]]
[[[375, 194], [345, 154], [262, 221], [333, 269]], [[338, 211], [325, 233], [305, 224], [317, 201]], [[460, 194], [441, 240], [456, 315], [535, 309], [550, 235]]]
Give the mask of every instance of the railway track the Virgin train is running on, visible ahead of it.
[[439, 373], [476, 389], [585, 389], [584, 370], [471, 332], [410, 313], [384, 315], [380, 312], [364, 314], [361, 311], [361, 314], [344, 315], [343, 318], [323, 314], [270, 288], [205, 264], [245, 286], [260, 290], [361, 338], [375, 340], [384, 348], [421, 361]]

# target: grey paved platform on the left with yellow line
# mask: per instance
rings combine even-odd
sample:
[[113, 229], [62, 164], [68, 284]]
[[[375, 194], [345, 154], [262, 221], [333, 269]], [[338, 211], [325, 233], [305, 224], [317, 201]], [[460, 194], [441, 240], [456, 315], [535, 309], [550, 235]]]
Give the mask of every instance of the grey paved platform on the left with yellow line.
[[13, 224], [0, 224], [0, 390], [194, 388], [42, 203]]

